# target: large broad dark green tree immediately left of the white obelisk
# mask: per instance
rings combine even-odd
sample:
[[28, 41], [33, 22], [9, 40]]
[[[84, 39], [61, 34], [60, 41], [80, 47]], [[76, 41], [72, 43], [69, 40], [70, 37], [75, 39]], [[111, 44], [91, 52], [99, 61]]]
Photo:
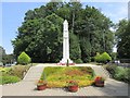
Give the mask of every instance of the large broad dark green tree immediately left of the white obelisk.
[[63, 19], [56, 14], [23, 23], [17, 38], [12, 41], [15, 54], [26, 51], [34, 62], [58, 61], [62, 54], [62, 24]]

